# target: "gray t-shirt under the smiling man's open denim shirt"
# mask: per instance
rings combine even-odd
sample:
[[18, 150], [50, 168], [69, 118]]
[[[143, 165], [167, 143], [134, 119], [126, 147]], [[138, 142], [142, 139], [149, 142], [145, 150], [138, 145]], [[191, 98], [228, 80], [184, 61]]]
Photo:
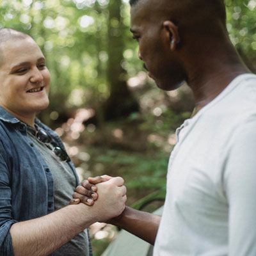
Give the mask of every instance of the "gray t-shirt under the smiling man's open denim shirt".
[[[52, 177], [54, 180], [54, 210], [61, 209], [68, 205], [70, 198], [76, 188], [76, 176], [70, 166], [61, 162], [54, 154], [51, 149], [47, 148], [46, 145], [36, 140], [35, 134], [36, 129], [27, 125], [28, 136], [35, 144], [36, 149], [42, 154], [45, 162], [51, 169]], [[89, 237], [88, 230], [84, 230], [78, 234], [74, 239], [64, 244], [52, 253], [54, 256], [89, 256]]]

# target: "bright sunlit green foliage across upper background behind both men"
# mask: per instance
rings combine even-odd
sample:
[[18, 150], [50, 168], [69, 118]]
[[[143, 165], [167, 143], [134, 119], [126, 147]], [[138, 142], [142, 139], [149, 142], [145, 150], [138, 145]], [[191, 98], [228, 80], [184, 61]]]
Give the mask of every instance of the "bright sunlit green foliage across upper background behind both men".
[[[19, 29], [31, 35], [42, 48], [51, 70], [52, 109], [95, 106], [109, 97], [108, 35], [124, 45], [120, 65], [125, 81], [142, 69], [138, 45], [129, 31], [128, 1], [108, 0], [1, 0], [1, 27]], [[255, 0], [226, 0], [227, 28], [232, 43], [246, 64], [255, 71]], [[111, 10], [120, 5], [120, 18]], [[111, 12], [110, 12], [111, 11]], [[116, 11], [115, 11], [116, 12]], [[112, 45], [112, 49], [114, 49]], [[115, 51], [115, 49], [114, 49]], [[115, 60], [115, 59], [113, 59]], [[115, 77], [115, 74], [110, 76]], [[73, 91], [76, 90], [76, 93]], [[46, 118], [45, 118], [46, 119]]]

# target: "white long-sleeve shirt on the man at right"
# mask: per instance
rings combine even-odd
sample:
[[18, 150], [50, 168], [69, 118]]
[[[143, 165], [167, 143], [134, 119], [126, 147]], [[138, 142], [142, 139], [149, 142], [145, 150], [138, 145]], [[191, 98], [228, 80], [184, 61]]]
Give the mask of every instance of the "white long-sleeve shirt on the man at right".
[[256, 255], [256, 76], [177, 129], [154, 256]]

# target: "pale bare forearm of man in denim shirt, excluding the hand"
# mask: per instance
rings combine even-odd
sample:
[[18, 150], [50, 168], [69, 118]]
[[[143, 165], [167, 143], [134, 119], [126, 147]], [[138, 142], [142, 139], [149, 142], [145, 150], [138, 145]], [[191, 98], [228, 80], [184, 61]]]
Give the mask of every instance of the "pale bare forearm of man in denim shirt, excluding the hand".
[[68, 205], [41, 218], [15, 223], [10, 229], [15, 256], [49, 255], [95, 222], [92, 207]]

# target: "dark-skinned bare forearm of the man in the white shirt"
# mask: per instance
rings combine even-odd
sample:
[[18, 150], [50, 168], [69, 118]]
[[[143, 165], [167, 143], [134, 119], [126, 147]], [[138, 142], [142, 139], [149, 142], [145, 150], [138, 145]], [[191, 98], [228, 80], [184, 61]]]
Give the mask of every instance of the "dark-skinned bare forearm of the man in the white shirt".
[[110, 223], [154, 244], [160, 220], [161, 216], [126, 206], [124, 212]]

